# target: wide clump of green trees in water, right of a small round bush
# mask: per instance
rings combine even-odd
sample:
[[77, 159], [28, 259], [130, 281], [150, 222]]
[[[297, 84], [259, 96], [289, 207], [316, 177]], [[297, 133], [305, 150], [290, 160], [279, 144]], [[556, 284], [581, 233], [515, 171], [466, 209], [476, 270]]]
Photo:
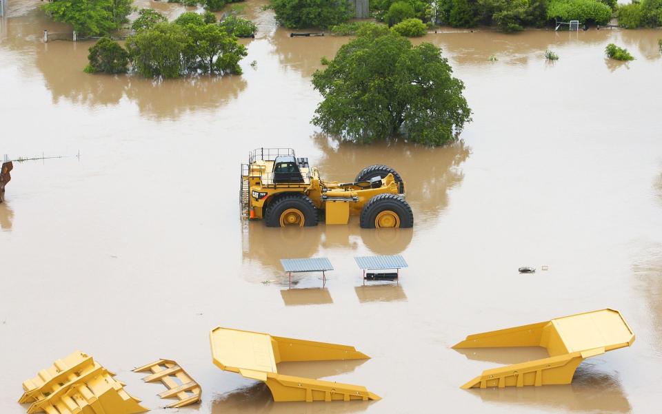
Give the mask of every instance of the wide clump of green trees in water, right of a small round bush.
[[[206, 14], [181, 14], [172, 23], [138, 30], [126, 41], [135, 72], [146, 77], [176, 78], [194, 74], [241, 74], [245, 46]], [[91, 61], [91, 60], [90, 60]]]

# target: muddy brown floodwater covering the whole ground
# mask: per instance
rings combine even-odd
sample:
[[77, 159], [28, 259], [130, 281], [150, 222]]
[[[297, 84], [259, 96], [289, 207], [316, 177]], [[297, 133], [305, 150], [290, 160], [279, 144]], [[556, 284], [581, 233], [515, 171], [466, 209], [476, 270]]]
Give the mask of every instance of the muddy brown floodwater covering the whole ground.
[[[243, 41], [242, 76], [157, 83], [83, 73], [92, 43], [43, 43], [43, 30], [67, 28], [40, 4], [9, 0], [0, 19], [0, 156], [65, 158], [14, 163], [0, 205], [2, 414], [24, 413], [21, 382], [75, 350], [150, 408], [162, 386], [130, 369], [177, 360], [203, 387], [181, 413], [659, 412], [662, 30], [428, 34], [465, 82], [473, 122], [447, 147], [359, 146], [310, 125], [311, 75], [346, 37], [290, 38], [248, 1], [259, 32]], [[605, 60], [608, 43], [636, 60]], [[241, 222], [239, 164], [257, 147], [293, 147], [332, 180], [394, 167], [414, 228]], [[363, 287], [352, 256], [394, 253], [410, 265], [399, 284]], [[325, 287], [304, 275], [288, 289], [279, 259], [312, 256], [334, 265]], [[465, 335], [603, 308], [636, 341], [586, 360], [572, 385], [460, 389], [544, 355], [450, 348]], [[276, 404], [212, 364], [219, 325], [357, 346], [372, 359], [279, 372], [383, 400]]]

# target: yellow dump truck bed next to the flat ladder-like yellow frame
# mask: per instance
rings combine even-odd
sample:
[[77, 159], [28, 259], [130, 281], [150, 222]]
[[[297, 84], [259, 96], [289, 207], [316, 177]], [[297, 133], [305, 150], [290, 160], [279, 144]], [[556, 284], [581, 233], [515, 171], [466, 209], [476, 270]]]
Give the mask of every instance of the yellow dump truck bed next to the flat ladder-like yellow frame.
[[210, 334], [212, 358], [220, 369], [263, 381], [274, 401], [380, 400], [364, 386], [282, 375], [279, 362], [368, 359], [353, 346], [282, 338], [268, 333], [216, 328]]

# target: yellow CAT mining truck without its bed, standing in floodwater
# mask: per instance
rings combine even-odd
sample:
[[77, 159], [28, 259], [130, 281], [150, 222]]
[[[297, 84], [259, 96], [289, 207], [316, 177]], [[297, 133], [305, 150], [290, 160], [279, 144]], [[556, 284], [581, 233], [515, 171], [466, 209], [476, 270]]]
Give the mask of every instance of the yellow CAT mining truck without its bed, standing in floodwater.
[[291, 148], [259, 148], [241, 165], [241, 214], [262, 219], [268, 227], [347, 224], [351, 215], [361, 227], [412, 227], [405, 183], [386, 165], [371, 165], [352, 183], [323, 180], [308, 158]]

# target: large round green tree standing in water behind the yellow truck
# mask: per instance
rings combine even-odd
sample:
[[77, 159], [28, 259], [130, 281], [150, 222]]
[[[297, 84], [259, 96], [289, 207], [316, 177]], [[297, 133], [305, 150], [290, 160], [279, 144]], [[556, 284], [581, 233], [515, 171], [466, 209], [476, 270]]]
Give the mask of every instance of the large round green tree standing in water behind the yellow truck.
[[383, 25], [365, 25], [322, 63], [312, 77], [323, 96], [312, 123], [330, 134], [359, 143], [404, 134], [443, 145], [471, 121], [464, 84], [431, 43], [413, 46]]

